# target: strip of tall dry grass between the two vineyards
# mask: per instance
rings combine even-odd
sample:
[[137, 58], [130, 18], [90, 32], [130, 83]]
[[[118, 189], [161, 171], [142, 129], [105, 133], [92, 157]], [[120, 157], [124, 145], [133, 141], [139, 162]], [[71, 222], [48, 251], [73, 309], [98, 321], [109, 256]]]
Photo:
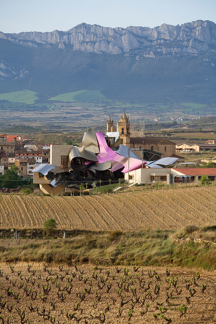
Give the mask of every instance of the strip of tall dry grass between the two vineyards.
[[[189, 232], [189, 233], [188, 233]], [[148, 230], [79, 234], [8, 247], [0, 246], [0, 260], [6, 262], [73, 262], [106, 265], [160, 265], [216, 269], [216, 232], [212, 228]], [[5, 245], [3, 245], [5, 244]]]

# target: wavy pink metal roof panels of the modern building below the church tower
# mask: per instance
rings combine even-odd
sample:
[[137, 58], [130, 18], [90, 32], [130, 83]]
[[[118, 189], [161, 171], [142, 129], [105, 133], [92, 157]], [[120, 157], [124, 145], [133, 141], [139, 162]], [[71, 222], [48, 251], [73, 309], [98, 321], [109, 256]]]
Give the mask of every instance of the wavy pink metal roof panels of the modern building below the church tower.
[[[97, 154], [98, 163], [106, 162], [108, 160], [111, 160], [111, 164], [114, 161], [118, 161], [121, 164], [123, 164], [124, 168], [121, 172], [126, 173], [128, 172], [128, 158], [124, 156], [120, 156], [118, 153], [113, 151], [106, 143], [105, 137], [103, 133], [96, 133], [100, 153]], [[145, 165], [146, 162], [143, 162], [143, 165]], [[135, 159], [133, 157], [130, 157], [129, 160], [129, 171], [134, 171], [136, 169], [142, 168], [142, 161]]]

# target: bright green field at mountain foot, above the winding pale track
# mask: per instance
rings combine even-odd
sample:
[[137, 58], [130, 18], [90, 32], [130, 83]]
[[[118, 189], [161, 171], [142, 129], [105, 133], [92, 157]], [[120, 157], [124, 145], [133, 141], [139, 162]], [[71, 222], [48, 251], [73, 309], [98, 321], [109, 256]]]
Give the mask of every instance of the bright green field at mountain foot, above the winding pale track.
[[80, 90], [74, 92], [67, 92], [56, 97], [49, 98], [52, 101], [70, 101], [70, 102], [91, 102], [91, 101], [99, 101], [106, 99], [101, 93], [100, 90]]

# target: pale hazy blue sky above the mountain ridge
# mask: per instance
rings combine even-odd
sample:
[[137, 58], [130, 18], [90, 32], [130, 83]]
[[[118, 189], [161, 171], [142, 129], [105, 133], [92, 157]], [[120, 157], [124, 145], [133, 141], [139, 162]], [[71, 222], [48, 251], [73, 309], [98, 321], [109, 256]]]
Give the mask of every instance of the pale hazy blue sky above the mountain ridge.
[[1, 0], [0, 31], [68, 30], [82, 22], [109, 27], [216, 22], [216, 0]]

